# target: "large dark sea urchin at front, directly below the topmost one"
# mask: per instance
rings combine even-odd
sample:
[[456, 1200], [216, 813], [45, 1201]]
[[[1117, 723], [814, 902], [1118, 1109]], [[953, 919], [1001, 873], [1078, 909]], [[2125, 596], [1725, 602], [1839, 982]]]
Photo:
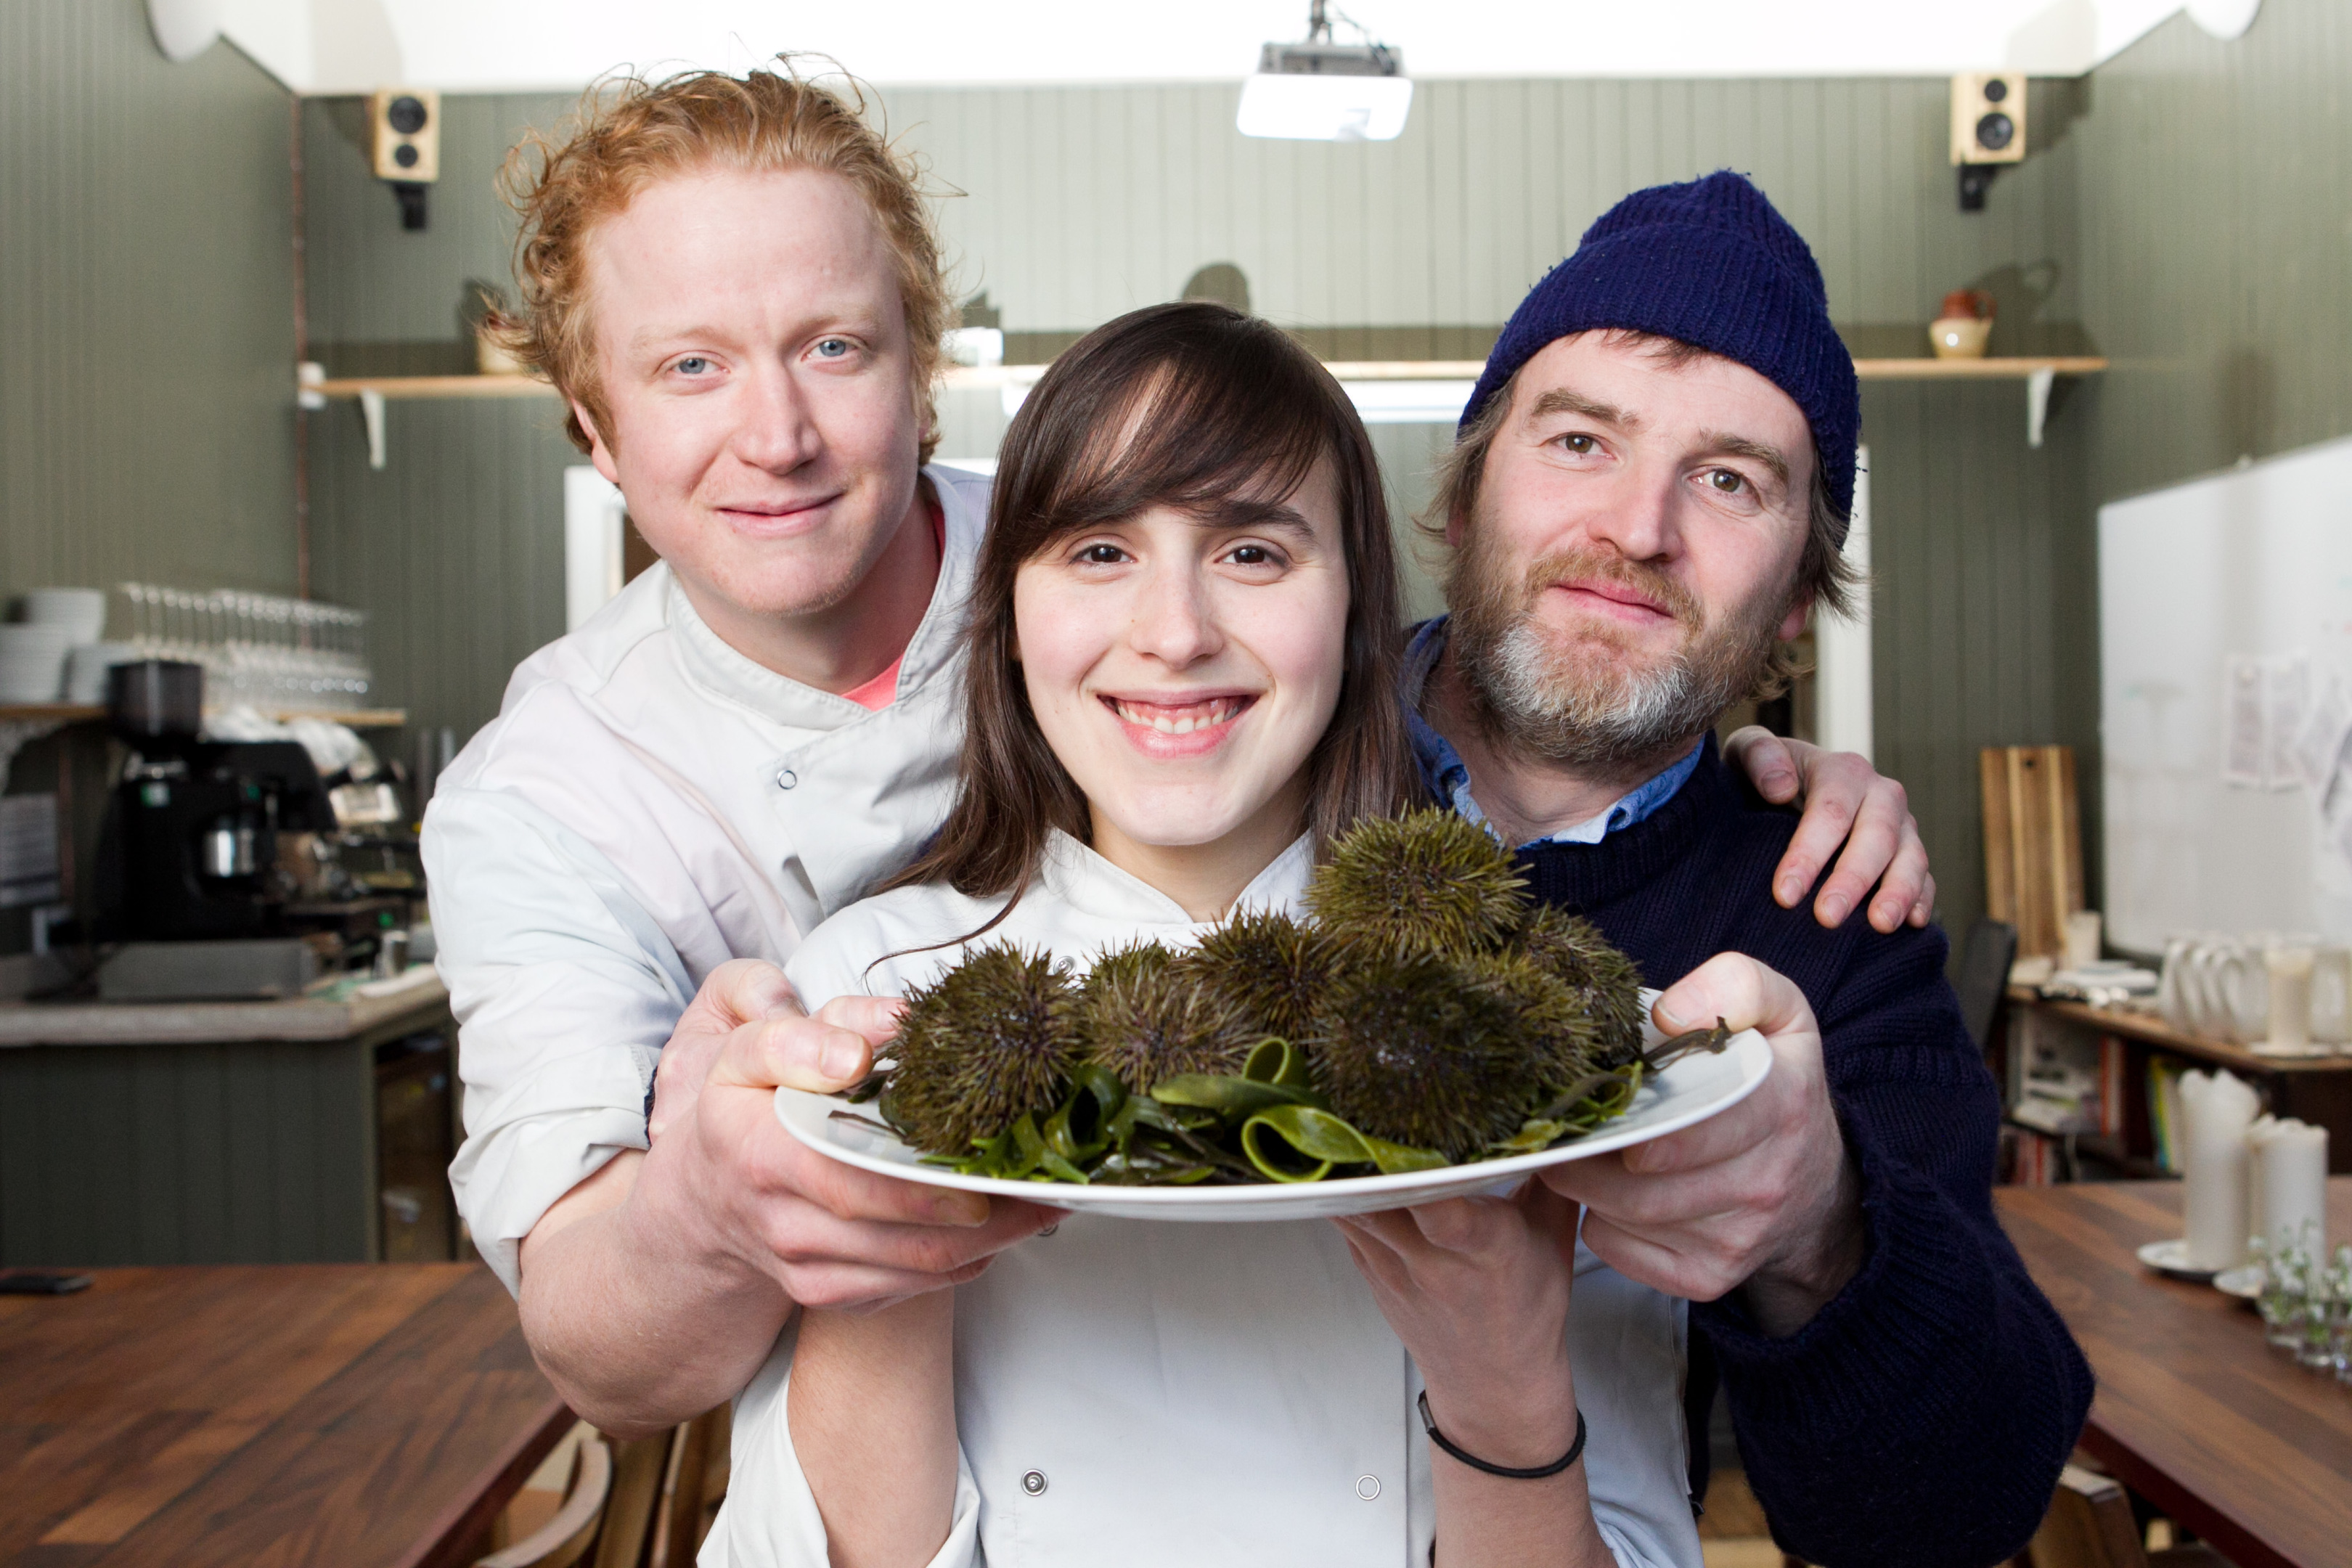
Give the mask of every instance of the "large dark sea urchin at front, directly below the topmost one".
[[1510, 1138], [1548, 1081], [1548, 1051], [1491, 966], [1355, 952], [1315, 1011], [1315, 1086], [1359, 1131], [1465, 1161]]

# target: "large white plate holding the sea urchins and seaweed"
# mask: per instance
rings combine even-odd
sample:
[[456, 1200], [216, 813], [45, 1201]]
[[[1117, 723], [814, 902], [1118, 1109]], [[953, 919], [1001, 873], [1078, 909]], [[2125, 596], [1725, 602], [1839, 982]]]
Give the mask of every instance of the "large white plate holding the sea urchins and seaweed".
[[[1644, 1013], [1656, 999], [1658, 992], [1642, 992]], [[1644, 1023], [1644, 1032], [1651, 1044], [1661, 1039], [1658, 1030], [1649, 1023]], [[1007, 1182], [985, 1175], [957, 1175], [917, 1164], [922, 1157], [889, 1133], [856, 1121], [835, 1121], [833, 1112], [847, 1110], [842, 1100], [811, 1095], [800, 1088], [776, 1091], [776, 1119], [783, 1121], [793, 1138], [800, 1138], [818, 1154], [858, 1166], [861, 1171], [927, 1182], [931, 1187], [1016, 1197], [1054, 1208], [1117, 1215], [1124, 1220], [1329, 1220], [1348, 1213], [1468, 1197], [1496, 1185], [1510, 1185], [1543, 1166], [1590, 1159], [1592, 1154], [1663, 1138], [1738, 1105], [1764, 1081], [1766, 1072], [1771, 1072], [1771, 1046], [1755, 1030], [1743, 1030], [1731, 1037], [1731, 1044], [1719, 1056], [1684, 1056], [1649, 1084], [1642, 1084], [1632, 1110], [1623, 1117], [1609, 1121], [1590, 1138], [1564, 1143], [1557, 1150], [1512, 1154], [1510, 1159], [1489, 1159], [1475, 1166], [1409, 1171], [1404, 1175], [1352, 1175], [1331, 1182], [1265, 1182], [1249, 1187], [1077, 1187], [1070, 1182]]]

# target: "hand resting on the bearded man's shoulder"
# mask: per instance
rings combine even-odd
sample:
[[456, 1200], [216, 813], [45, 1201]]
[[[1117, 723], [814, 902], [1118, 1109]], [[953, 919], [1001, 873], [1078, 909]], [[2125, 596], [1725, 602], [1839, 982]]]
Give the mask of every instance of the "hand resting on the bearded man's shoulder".
[[1823, 926], [1846, 924], [1870, 886], [1879, 884], [1870, 900], [1875, 929], [1929, 922], [1936, 912], [1936, 877], [1926, 870], [1926, 844], [1900, 783], [1853, 752], [1825, 752], [1759, 724], [1733, 731], [1724, 741], [1724, 757], [1748, 773], [1764, 799], [1804, 802], [1804, 820], [1771, 879], [1771, 896], [1783, 910], [1797, 907], [1820, 879], [1830, 853], [1844, 844], [1837, 870], [1813, 898], [1813, 919]]

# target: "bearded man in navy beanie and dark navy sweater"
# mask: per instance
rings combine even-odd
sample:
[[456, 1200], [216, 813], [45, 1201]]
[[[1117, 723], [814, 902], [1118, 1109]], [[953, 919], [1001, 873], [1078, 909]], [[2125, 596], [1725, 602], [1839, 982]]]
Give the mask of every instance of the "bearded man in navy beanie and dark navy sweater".
[[1999, 1098], [1933, 929], [1766, 896], [1795, 818], [1712, 741], [1842, 607], [1860, 393], [1804, 240], [1736, 174], [1639, 190], [1503, 329], [1432, 520], [1446, 604], [1406, 658], [1430, 790], [1590, 917], [1668, 1030], [1759, 1027], [1738, 1107], [1555, 1166], [1583, 1241], [1691, 1302], [1693, 1495], [1729, 1387], [1804, 1561], [2004, 1561], [2089, 1368], [1992, 1218]]

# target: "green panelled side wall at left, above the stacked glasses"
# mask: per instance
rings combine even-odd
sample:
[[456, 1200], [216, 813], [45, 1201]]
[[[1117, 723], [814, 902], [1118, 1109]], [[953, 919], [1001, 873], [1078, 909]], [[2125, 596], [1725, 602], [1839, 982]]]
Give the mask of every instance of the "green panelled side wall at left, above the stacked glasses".
[[141, 0], [0, 5], [0, 592], [294, 588], [289, 146]]

